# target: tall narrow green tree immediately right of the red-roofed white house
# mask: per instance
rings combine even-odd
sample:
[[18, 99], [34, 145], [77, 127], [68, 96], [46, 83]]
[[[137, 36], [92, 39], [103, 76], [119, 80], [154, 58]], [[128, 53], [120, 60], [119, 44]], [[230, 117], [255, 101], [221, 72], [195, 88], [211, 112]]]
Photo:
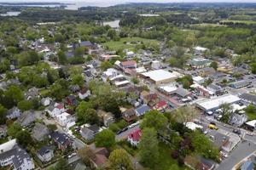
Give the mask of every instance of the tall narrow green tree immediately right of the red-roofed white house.
[[147, 167], [154, 168], [159, 161], [159, 146], [157, 133], [154, 128], [144, 128], [142, 139], [139, 143], [140, 161]]

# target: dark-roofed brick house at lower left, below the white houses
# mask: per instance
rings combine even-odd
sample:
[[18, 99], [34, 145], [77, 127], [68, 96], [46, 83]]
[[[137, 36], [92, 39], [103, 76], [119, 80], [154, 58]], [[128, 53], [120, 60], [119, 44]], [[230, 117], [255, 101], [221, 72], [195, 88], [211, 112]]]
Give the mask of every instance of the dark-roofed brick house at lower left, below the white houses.
[[66, 133], [60, 133], [58, 131], [55, 131], [53, 133], [49, 133], [49, 138], [53, 139], [55, 144], [57, 144], [58, 149], [64, 151], [67, 149], [67, 147], [72, 146], [73, 140], [67, 136]]

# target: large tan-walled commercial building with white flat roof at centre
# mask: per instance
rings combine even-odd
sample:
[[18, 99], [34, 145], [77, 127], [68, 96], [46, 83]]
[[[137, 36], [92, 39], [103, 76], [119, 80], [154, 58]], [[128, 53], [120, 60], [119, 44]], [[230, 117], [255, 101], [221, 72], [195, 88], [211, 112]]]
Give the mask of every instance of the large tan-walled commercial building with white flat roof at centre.
[[164, 71], [164, 70], [155, 70], [143, 72], [140, 74], [140, 77], [143, 77], [149, 82], [153, 82], [155, 85], [160, 85], [161, 83], [174, 82], [177, 77], [180, 77], [180, 74], [173, 71]]

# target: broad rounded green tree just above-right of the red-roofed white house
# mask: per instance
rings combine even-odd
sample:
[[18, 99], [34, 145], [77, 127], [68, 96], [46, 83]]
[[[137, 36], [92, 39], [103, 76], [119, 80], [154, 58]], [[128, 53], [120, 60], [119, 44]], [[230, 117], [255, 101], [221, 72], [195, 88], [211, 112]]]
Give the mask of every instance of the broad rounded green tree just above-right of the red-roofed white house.
[[141, 128], [154, 128], [157, 132], [163, 132], [166, 130], [168, 120], [166, 116], [159, 111], [148, 111], [143, 118]]

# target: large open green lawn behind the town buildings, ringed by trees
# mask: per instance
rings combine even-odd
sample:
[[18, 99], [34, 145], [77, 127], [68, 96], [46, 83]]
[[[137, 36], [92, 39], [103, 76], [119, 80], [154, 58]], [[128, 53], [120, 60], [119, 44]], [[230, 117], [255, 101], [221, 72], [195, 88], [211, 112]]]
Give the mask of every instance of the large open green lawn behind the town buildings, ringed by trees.
[[105, 42], [103, 43], [103, 46], [108, 47], [110, 50], [123, 50], [123, 49], [130, 49], [134, 50], [136, 48], [136, 45], [139, 44], [140, 42], [143, 43], [151, 43], [151, 42], [156, 42], [159, 43], [157, 40], [151, 40], [151, 39], [146, 39], [142, 37], [124, 37], [120, 38], [119, 41], [110, 41], [110, 42]]

